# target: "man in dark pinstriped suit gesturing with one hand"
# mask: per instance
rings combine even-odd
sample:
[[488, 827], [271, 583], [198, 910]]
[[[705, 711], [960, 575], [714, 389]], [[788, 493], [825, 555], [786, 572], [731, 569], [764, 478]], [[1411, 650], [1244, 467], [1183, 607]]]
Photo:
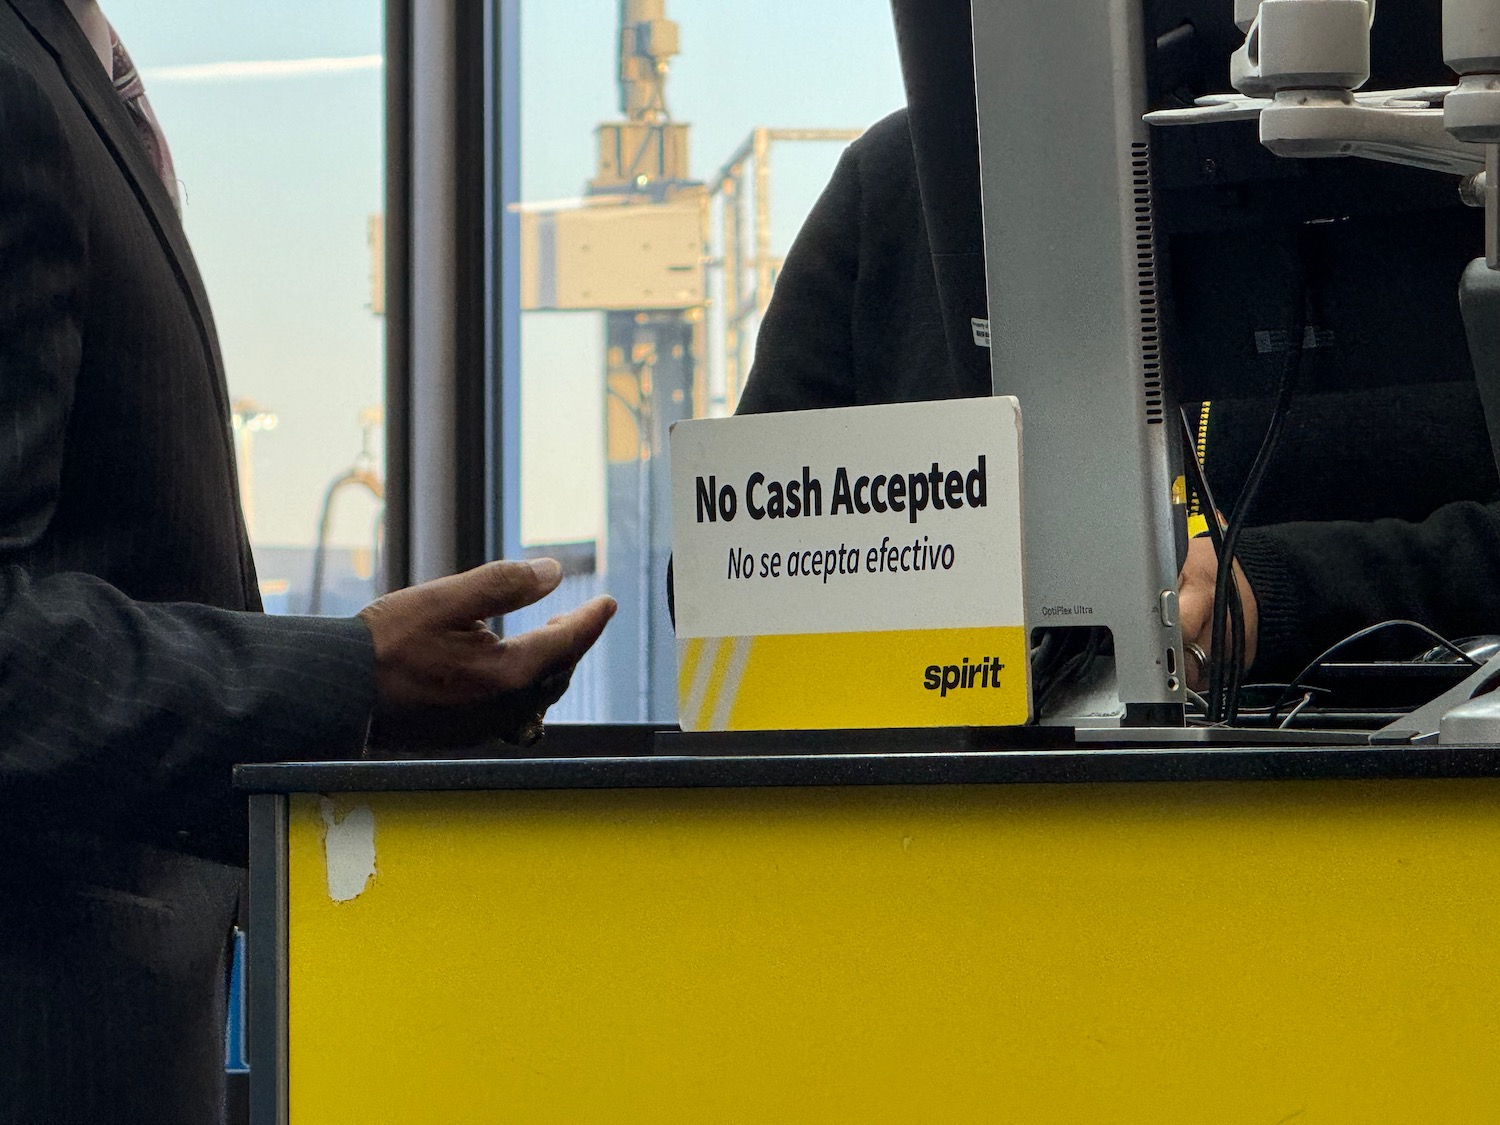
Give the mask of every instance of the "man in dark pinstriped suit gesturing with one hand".
[[500, 642], [483, 621], [560, 572], [496, 562], [356, 620], [255, 612], [208, 303], [90, 22], [0, 0], [0, 1122], [202, 1125], [230, 766], [358, 756], [414, 716], [512, 734], [614, 603]]

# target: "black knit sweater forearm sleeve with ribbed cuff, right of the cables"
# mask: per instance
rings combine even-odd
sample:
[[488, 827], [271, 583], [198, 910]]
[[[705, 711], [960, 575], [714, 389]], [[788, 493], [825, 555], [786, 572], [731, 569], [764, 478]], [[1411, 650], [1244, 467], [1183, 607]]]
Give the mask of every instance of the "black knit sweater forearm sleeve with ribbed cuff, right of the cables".
[[[1425, 520], [1276, 524], [1236, 556], [1260, 610], [1256, 680], [1284, 680], [1350, 633], [1392, 618], [1450, 639], [1500, 633], [1500, 506], [1448, 504]], [[1392, 638], [1392, 657], [1426, 648]]]

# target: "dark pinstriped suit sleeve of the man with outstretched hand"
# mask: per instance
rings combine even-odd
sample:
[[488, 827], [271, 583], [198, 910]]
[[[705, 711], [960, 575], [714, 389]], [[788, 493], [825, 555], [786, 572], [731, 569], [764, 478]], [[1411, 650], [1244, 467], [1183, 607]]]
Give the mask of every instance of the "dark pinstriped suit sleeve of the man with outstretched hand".
[[0, 54], [0, 820], [222, 807], [234, 762], [357, 753], [374, 698], [357, 620], [138, 603], [27, 567], [80, 368], [80, 198], [56, 110]]

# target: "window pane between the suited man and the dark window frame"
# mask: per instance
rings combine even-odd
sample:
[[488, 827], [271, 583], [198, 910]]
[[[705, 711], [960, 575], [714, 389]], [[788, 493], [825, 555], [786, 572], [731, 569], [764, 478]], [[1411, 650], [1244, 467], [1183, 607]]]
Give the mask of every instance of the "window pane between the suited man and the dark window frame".
[[171, 147], [266, 608], [354, 612], [378, 585], [384, 488], [382, 4], [102, 8]]

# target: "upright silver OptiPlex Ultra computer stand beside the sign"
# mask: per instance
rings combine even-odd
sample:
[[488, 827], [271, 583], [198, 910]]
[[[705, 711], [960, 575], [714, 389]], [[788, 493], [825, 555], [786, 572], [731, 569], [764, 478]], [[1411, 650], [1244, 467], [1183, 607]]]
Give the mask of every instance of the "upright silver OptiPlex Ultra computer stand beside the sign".
[[1140, 0], [974, 0], [990, 364], [1020, 400], [1026, 624], [1102, 627], [1116, 694], [1041, 722], [1180, 726], [1178, 476]]

